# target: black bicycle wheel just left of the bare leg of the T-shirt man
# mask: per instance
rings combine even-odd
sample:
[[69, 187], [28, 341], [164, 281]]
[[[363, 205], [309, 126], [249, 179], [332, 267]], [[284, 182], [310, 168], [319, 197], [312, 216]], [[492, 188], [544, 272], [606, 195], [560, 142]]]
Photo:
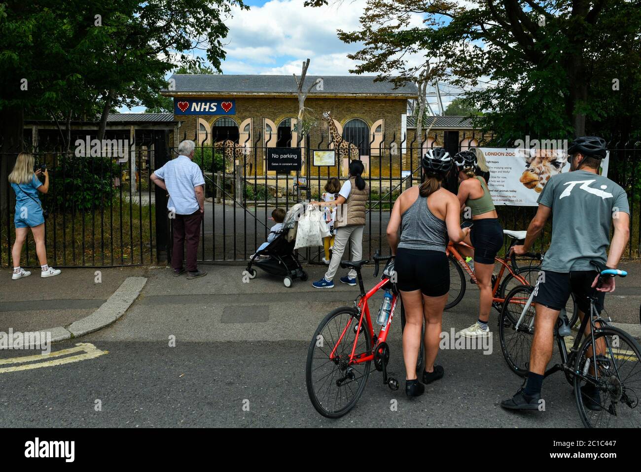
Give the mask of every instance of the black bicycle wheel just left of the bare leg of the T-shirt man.
[[534, 338], [534, 304], [528, 307], [522, 317], [521, 314], [532, 291], [533, 287], [526, 285], [512, 289], [505, 298], [499, 317], [503, 357], [510, 370], [522, 377], [528, 373], [529, 351]]

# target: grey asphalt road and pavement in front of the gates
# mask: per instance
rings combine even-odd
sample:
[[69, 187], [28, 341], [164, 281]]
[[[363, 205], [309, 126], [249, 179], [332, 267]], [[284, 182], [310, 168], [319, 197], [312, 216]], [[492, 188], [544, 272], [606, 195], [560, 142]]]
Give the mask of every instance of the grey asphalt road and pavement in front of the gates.
[[[372, 369], [352, 412], [335, 421], [321, 417], [306, 392], [306, 353], [322, 317], [351, 305], [357, 287], [314, 289], [311, 282], [325, 270], [320, 266], [306, 267], [310, 280], [291, 288], [260, 269], [249, 280], [244, 268], [201, 265], [209, 274], [196, 280], [174, 278], [168, 268], [101, 269], [102, 283], [94, 283], [94, 269], [67, 269], [52, 279], [0, 284], [0, 331], [36, 330], [91, 316], [128, 277], [146, 278], [123, 316], [53, 344], [49, 357], [0, 351], [3, 426], [581, 426], [572, 389], [560, 374], [545, 381], [545, 412], [512, 414], [499, 407], [522, 380], [506, 366], [497, 336], [488, 355], [440, 351], [444, 379], [429, 385], [425, 396], [406, 400], [400, 319], [388, 342], [389, 370], [401, 389], [390, 391]], [[617, 280], [606, 307], [613, 321], [638, 326], [641, 264], [622, 268], [630, 276]], [[365, 287], [374, 285], [372, 271], [365, 267]], [[0, 278], [8, 275], [0, 271]], [[42, 295], [35, 301], [33, 293]], [[379, 299], [372, 300], [373, 310]], [[461, 303], [445, 312], [443, 330], [469, 326], [477, 305], [478, 289], [468, 284]], [[496, 323], [494, 312], [490, 328]]]

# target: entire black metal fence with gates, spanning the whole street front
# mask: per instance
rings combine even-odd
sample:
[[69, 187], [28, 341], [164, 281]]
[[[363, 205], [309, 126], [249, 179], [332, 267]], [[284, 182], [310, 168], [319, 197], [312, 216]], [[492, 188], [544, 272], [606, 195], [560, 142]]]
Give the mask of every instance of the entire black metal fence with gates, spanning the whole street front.
[[[199, 259], [202, 261], [247, 260], [269, 234], [269, 221], [274, 208], [288, 210], [294, 204], [319, 200], [329, 177], [347, 178], [347, 156], [363, 160], [370, 198], [363, 236], [363, 257], [375, 251], [387, 253], [385, 230], [390, 210], [397, 196], [420, 182], [420, 156], [444, 139], [430, 131], [420, 140], [383, 135], [368, 144], [356, 144], [342, 155], [337, 149], [334, 165], [313, 165], [313, 151], [331, 146], [326, 131], [310, 133], [304, 142], [294, 143], [301, 151], [301, 171], [278, 174], [267, 169], [267, 151], [276, 144], [276, 135], [255, 135], [245, 142], [207, 144], [208, 137], [197, 142], [194, 161], [205, 177], [206, 211], [201, 228]], [[187, 136], [184, 136], [187, 138]], [[167, 135], [137, 137], [126, 156], [114, 155], [104, 146], [78, 155], [70, 151], [43, 146], [33, 153], [38, 164], [49, 170], [49, 192], [42, 196], [49, 210], [46, 221], [47, 257], [51, 266], [101, 267], [154, 264], [171, 256], [171, 220], [167, 217], [166, 192], [149, 180], [153, 169], [161, 167], [176, 155], [167, 148]], [[610, 142], [608, 177], [628, 192], [631, 207], [631, 238], [627, 257], [641, 254], [641, 140], [613, 139]], [[456, 153], [468, 146], [510, 147], [494, 142], [491, 135], [477, 133], [458, 135], [458, 146], [451, 136], [445, 139]], [[456, 142], [456, 140], [454, 140]], [[283, 140], [281, 143], [283, 144]], [[292, 147], [291, 140], [287, 147]], [[297, 144], [297, 146], [296, 146]], [[367, 150], [367, 155], [361, 155]], [[356, 153], [356, 154], [354, 154]], [[17, 151], [0, 153], [0, 171], [6, 182]], [[456, 192], [458, 181], [453, 173], [445, 186]], [[15, 240], [13, 217], [15, 196], [8, 185], [0, 187], [0, 266], [12, 263], [11, 249]], [[497, 207], [506, 229], [525, 230], [536, 207]], [[550, 225], [544, 229], [535, 249], [549, 244]], [[320, 262], [322, 248], [310, 248], [299, 254], [307, 262]], [[37, 266], [33, 239], [22, 252], [22, 266]]]

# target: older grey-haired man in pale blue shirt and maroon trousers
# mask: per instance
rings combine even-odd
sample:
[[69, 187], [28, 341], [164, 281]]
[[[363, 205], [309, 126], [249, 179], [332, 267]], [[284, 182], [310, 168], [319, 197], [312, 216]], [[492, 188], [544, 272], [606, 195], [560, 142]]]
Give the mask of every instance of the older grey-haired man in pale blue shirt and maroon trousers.
[[[174, 277], [187, 271], [187, 278], [206, 275], [196, 266], [196, 253], [200, 241], [200, 225], [204, 214], [204, 178], [195, 162], [194, 141], [185, 140], [178, 145], [178, 157], [156, 169], [151, 180], [169, 192], [167, 209], [174, 214], [174, 248], [171, 265]], [[187, 242], [187, 267], [183, 267], [183, 251]]]

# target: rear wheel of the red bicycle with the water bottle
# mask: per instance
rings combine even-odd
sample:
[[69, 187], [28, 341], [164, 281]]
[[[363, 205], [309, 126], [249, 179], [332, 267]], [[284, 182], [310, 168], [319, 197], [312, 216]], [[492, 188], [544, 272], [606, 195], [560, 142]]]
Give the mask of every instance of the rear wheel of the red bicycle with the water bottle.
[[367, 384], [371, 361], [348, 365], [355, 338], [355, 354], [372, 350], [367, 328], [356, 333], [357, 328], [356, 308], [340, 307], [320, 322], [310, 343], [305, 381], [312, 405], [322, 416], [338, 418], [349, 412]]

